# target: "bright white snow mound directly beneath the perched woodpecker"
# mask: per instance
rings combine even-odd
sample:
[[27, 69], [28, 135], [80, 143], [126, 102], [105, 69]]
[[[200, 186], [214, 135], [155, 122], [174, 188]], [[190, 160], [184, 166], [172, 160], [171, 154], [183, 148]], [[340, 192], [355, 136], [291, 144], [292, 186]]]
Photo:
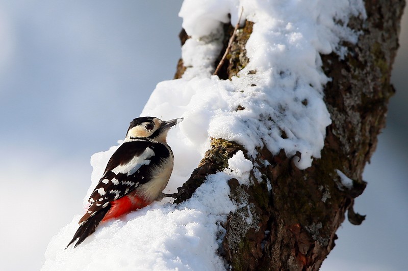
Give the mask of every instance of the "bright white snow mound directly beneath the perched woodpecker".
[[[81, 246], [66, 246], [77, 216], [49, 244], [43, 270], [222, 270], [215, 257], [217, 224], [235, 209], [223, 172], [211, 175], [195, 196], [176, 208], [154, 203], [121, 219], [101, 224]], [[214, 193], [214, 190], [217, 193]], [[198, 257], [197, 257], [198, 256]], [[58, 259], [56, 261], [50, 258]]]

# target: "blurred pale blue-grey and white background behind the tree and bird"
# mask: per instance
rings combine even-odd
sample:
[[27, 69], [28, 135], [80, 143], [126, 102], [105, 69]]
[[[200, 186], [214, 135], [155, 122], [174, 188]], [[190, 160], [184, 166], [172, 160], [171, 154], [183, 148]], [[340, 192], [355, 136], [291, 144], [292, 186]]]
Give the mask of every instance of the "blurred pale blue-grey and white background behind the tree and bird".
[[[181, 55], [182, 1], [0, 0], [0, 266], [36, 270], [82, 212], [92, 154], [125, 135]], [[406, 13], [406, 12], [405, 12]], [[408, 16], [387, 128], [366, 191], [322, 270], [405, 270], [408, 255]]]

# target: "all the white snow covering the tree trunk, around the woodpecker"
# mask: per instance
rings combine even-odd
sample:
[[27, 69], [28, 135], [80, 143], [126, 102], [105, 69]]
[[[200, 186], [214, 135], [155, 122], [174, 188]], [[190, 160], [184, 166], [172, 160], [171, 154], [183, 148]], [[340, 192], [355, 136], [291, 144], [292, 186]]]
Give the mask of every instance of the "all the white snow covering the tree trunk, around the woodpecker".
[[[222, 23], [253, 21], [247, 45], [249, 64], [232, 80], [213, 76], [221, 49]], [[169, 132], [174, 170], [165, 193], [189, 178], [210, 138], [242, 144], [249, 157], [256, 147], [276, 154], [301, 153], [296, 164], [311, 166], [320, 157], [330, 116], [322, 89], [329, 80], [320, 53], [342, 57], [341, 41], [356, 42], [348, 18], [365, 17], [360, 0], [185, 0], [179, 14], [192, 38], [182, 48], [183, 78], [157, 85], [141, 115], [168, 120], [184, 117]], [[251, 72], [250, 72], [251, 71]], [[243, 110], [236, 110], [238, 106]], [[131, 120], [130, 120], [131, 121]], [[127, 127], [126, 127], [127, 128]], [[124, 128], [124, 129], [126, 129]], [[84, 206], [110, 156], [122, 143], [91, 158], [92, 184]], [[242, 152], [241, 152], [242, 153]], [[208, 176], [193, 197], [175, 206], [165, 199], [120, 219], [101, 223], [77, 248], [64, 250], [78, 228], [72, 222], [53, 237], [43, 270], [222, 270], [217, 255], [225, 230], [221, 223], [236, 209], [227, 180], [249, 184], [251, 161], [238, 152], [229, 169]], [[244, 174], [246, 173], [246, 174]], [[166, 201], [167, 200], [167, 201]], [[84, 211], [85, 212], [85, 211]], [[246, 218], [250, 223], [251, 218]]]

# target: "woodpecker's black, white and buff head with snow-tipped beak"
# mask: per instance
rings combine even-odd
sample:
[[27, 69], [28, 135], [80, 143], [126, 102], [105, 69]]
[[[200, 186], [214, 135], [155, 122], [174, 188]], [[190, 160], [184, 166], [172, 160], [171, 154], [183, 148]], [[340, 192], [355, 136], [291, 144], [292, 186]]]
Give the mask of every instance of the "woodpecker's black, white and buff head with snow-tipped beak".
[[183, 117], [162, 121], [157, 117], [144, 116], [135, 118], [127, 129], [126, 138], [148, 138], [160, 143], [166, 143], [168, 130], [183, 121]]

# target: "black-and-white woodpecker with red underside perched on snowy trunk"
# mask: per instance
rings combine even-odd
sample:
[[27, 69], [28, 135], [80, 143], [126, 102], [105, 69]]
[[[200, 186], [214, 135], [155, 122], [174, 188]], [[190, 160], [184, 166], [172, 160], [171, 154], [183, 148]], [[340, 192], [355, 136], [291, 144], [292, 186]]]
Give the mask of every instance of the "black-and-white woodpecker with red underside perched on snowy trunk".
[[169, 129], [183, 118], [162, 121], [157, 117], [133, 119], [123, 144], [109, 159], [103, 176], [89, 197], [89, 208], [80, 219], [71, 245], [91, 235], [100, 222], [120, 217], [166, 196], [174, 155], [166, 142]]

